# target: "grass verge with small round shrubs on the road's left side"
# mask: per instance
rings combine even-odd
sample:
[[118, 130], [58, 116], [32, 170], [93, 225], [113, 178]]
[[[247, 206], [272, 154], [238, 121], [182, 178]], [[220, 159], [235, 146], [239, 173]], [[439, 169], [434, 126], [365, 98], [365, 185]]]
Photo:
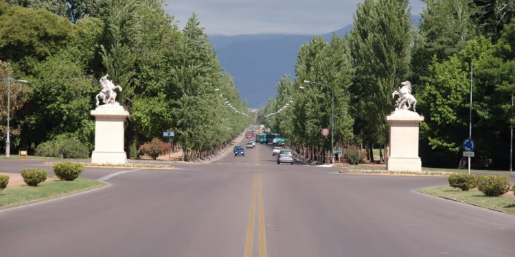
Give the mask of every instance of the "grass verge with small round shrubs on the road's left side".
[[[55, 176], [52, 176], [56, 178]], [[54, 180], [43, 182], [38, 186], [13, 186], [0, 191], [0, 209], [38, 201], [71, 195], [93, 188], [105, 186], [106, 183], [87, 178], [77, 178], [73, 181]]]

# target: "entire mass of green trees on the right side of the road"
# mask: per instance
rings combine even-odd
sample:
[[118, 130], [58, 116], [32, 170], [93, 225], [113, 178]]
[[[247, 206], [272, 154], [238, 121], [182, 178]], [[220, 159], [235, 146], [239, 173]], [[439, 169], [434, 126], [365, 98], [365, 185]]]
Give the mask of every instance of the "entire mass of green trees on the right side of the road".
[[374, 160], [372, 149], [387, 148], [391, 93], [409, 80], [417, 112], [425, 118], [422, 163], [457, 167], [468, 137], [472, 66], [475, 158], [507, 168], [515, 121], [515, 1], [424, 2], [418, 29], [408, 0], [358, 3], [349, 34], [334, 34], [330, 42], [314, 36], [302, 45], [295, 78], [285, 76], [277, 83], [278, 95], [268, 100], [258, 121], [286, 136], [307, 158], [325, 162], [330, 136], [322, 136], [321, 129], [330, 127], [331, 91], [304, 80], [327, 84], [334, 88], [337, 148], [358, 145]]

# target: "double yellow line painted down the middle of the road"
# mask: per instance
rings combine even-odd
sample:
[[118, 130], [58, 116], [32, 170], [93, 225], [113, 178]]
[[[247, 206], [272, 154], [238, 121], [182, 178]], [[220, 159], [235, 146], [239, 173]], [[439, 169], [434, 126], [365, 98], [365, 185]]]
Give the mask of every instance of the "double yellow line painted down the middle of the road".
[[261, 174], [255, 173], [254, 186], [252, 193], [251, 215], [249, 217], [249, 228], [247, 228], [247, 243], [245, 245], [244, 257], [252, 257], [252, 247], [254, 243], [254, 219], [255, 219], [255, 199], [258, 195], [258, 212], [259, 212], [259, 253], [260, 257], [266, 257], [266, 236], [265, 236], [265, 223], [264, 223], [264, 208], [263, 208], [263, 191], [261, 184]]

